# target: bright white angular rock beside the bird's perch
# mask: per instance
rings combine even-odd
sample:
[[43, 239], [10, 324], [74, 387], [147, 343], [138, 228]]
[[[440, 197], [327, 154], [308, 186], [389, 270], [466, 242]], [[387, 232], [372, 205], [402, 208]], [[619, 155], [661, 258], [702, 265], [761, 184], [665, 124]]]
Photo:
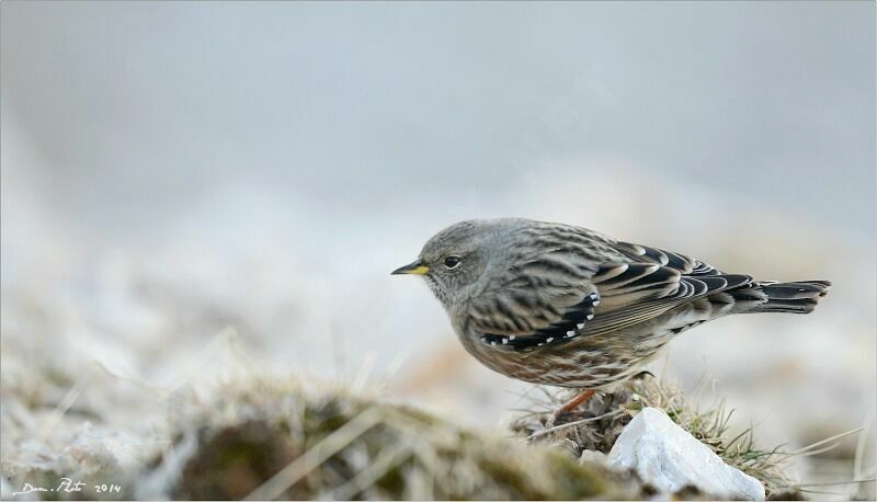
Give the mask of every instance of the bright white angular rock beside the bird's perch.
[[764, 487], [753, 477], [725, 464], [657, 408], [646, 408], [622, 431], [608, 456], [610, 467], [634, 469], [663, 492], [693, 484], [732, 500], [764, 500]]

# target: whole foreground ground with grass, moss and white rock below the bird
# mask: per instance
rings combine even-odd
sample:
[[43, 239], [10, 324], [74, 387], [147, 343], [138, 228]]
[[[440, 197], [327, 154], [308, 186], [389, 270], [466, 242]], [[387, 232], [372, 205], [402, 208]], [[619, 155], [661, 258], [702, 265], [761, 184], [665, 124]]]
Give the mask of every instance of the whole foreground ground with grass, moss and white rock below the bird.
[[[751, 434], [731, 437], [726, 410], [697, 411], [648, 375], [548, 427], [565, 396], [539, 389], [511, 430], [482, 431], [386, 396], [259, 377], [243, 355], [230, 357], [237, 373], [176, 389], [149, 389], [101, 369], [78, 381], [58, 376], [45, 393], [7, 388], [3, 499], [605, 500], [662, 491], [682, 499], [798, 499], [809, 492], [785, 471], [788, 452], [759, 447]], [[136, 402], [121, 401], [135, 392]], [[101, 410], [113, 406], [139, 408], [141, 415], [127, 423], [102, 419]], [[70, 483], [80, 488], [67, 491]], [[853, 493], [868, 497], [873, 483], [859, 484]], [[27, 487], [65, 488], [15, 494]]]

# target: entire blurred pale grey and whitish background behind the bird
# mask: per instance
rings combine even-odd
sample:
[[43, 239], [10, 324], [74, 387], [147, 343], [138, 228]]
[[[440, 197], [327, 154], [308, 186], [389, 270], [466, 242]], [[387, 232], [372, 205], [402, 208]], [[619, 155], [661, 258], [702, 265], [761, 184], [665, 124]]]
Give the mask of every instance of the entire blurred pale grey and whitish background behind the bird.
[[263, 369], [493, 426], [528, 387], [389, 272], [498, 216], [831, 279], [811, 316], [704, 326], [656, 373], [707, 383], [768, 445], [873, 441], [870, 2], [1, 14], [4, 461], [64, 448], [33, 441], [33, 402], [78, 385], [107, 437], [157, 414], [143, 389], [224, 372], [232, 342]]

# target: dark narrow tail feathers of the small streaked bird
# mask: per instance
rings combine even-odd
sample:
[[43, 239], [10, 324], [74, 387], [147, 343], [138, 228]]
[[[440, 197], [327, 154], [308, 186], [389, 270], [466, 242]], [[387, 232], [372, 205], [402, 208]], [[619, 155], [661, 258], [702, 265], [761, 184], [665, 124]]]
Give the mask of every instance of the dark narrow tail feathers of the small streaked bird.
[[810, 313], [830, 288], [828, 281], [763, 281], [727, 293], [733, 296], [739, 307], [748, 304], [748, 308], [740, 309], [742, 312]]

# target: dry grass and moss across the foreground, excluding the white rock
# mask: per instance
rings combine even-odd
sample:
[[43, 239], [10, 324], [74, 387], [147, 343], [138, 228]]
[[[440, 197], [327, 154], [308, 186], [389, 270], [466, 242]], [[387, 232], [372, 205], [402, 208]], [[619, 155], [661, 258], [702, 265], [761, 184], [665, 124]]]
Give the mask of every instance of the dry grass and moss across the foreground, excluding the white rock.
[[[770, 497], [795, 499], [820, 487], [790, 481], [788, 460], [824, 452], [842, 438], [791, 453], [763, 449], [751, 427], [729, 434], [732, 411], [722, 404], [698, 410], [679, 389], [653, 377], [599, 393], [550, 429], [547, 417], [569, 392], [534, 388], [512, 424], [517, 437], [509, 438], [335, 387], [260, 378], [251, 369], [242, 368], [234, 384], [184, 386], [166, 396], [169, 420], [149, 442], [155, 444], [150, 459], [119, 470], [95, 454], [84, 479], [121, 484], [124, 492], [115, 498], [122, 499], [639, 499], [653, 493], [636, 476], [580, 457], [586, 449], [608, 452], [639, 410], [654, 407], [762, 481]], [[64, 402], [58, 409], [66, 409]], [[57, 484], [59, 474], [34, 466], [4, 463], [2, 474]]]

